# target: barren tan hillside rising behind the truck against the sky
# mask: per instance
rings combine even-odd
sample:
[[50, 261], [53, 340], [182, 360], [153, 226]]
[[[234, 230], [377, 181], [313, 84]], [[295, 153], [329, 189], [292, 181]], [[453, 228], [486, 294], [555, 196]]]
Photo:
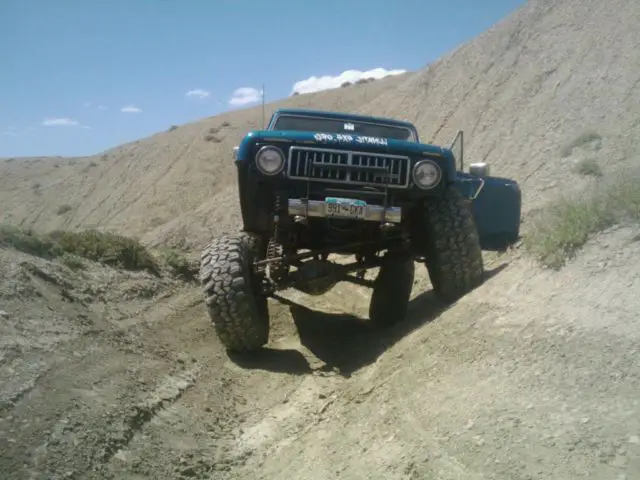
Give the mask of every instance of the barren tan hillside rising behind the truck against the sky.
[[[463, 129], [468, 161], [488, 161], [495, 174], [522, 182], [528, 211], [566, 188], [584, 188], [572, 168], [585, 156], [605, 172], [637, 158], [639, 22], [631, 0], [533, 1], [423, 71], [291, 97], [266, 111], [390, 115], [444, 144]], [[258, 106], [94, 157], [2, 162], [0, 221], [99, 226], [151, 244], [199, 247], [214, 224], [235, 228], [231, 150], [260, 124]]]

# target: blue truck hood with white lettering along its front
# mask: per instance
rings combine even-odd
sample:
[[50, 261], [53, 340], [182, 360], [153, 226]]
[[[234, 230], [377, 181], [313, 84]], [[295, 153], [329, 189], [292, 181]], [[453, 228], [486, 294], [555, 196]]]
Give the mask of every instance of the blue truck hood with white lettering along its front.
[[324, 148], [390, 153], [396, 155], [434, 155], [439, 157], [450, 155], [448, 149], [431, 144], [354, 134], [328, 134], [298, 130], [259, 130], [250, 132], [242, 141], [240, 150], [245, 150], [247, 146], [255, 142], [287, 143], [305, 146], [315, 145]]

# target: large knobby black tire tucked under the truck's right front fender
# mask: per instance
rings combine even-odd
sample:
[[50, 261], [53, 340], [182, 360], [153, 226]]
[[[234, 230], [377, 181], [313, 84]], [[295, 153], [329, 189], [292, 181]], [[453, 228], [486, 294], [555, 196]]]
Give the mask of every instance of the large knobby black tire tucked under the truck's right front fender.
[[469, 200], [454, 188], [424, 208], [424, 253], [435, 294], [451, 303], [482, 284], [482, 250]]

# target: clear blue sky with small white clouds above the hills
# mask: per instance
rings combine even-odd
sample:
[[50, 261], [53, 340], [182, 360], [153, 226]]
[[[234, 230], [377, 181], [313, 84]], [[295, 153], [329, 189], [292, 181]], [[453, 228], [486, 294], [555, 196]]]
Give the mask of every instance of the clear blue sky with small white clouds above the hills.
[[312, 76], [417, 70], [524, 3], [0, 0], [0, 157], [96, 154], [255, 105], [230, 103], [238, 88], [270, 102], [336, 82]]

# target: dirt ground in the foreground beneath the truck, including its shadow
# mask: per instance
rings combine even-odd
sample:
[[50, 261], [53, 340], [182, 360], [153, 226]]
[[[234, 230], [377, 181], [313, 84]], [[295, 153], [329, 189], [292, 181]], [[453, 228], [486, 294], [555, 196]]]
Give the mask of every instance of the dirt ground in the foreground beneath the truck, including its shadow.
[[[0, 253], [2, 478], [640, 477], [638, 232], [380, 334], [341, 286], [220, 349], [193, 285]], [[347, 312], [347, 313], [345, 313]]]

